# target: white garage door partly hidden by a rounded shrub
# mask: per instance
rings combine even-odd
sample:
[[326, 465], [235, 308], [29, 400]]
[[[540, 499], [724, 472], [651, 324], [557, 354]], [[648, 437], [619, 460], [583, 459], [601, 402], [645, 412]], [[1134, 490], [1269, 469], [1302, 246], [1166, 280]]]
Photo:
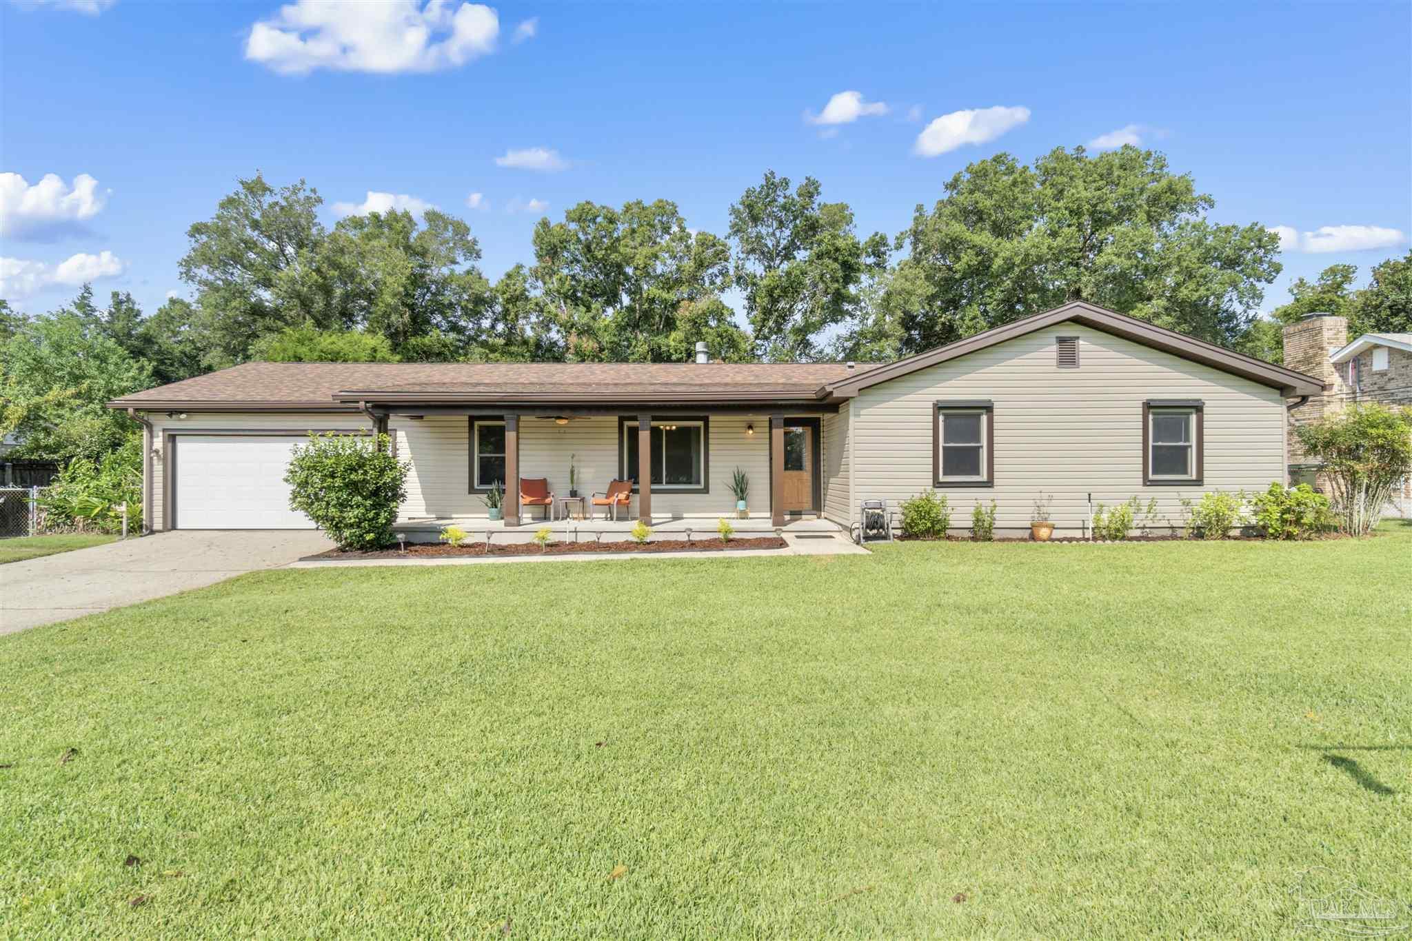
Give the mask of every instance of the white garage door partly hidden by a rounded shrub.
[[284, 471], [298, 435], [181, 435], [176, 442], [178, 529], [313, 529], [289, 509]]

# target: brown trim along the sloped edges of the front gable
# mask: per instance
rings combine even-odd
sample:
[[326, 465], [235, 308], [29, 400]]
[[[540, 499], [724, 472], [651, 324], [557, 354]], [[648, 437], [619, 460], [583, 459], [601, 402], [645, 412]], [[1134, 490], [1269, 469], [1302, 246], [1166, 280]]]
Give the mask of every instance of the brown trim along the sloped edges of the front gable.
[[1106, 308], [1099, 308], [1083, 300], [1073, 300], [1060, 308], [1055, 308], [1053, 310], [1046, 310], [1043, 313], [1036, 313], [1032, 317], [1025, 317], [1024, 320], [1015, 320], [1014, 323], [993, 327], [984, 333], [977, 333], [976, 336], [957, 340], [956, 343], [949, 343], [943, 347], [936, 347], [935, 350], [928, 350], [926, 353], [918, 353], [916, 356], [905, 360], [898, 360], [897, 363], [888, 363], [887, 365], [864, 370], [858, 375], [851, 375], [837, 382], [829, 382], [819, 389], [819, 395], [820, 398], [853, 398], [860, 389], [877, 385], [878, 382], [887, 382], [888, 380], [895, 380], [901, 375], [915, 372], [916, 370], [925, 370], [929, 365], [946, 363], [947, 360], [955, 360], [967, 356], [969, 353], [976, 353], [977, 350], [984, 350], [998, 343], [1005, 343], [1007, 340], [1014, 340], [1025, 336], [1027, 333], [1034, 333], [1035, 330], [1042, 330], [1043, 327], [1065, 322], [1082, 323], [1096, 330], [1123, 337], [1124, 340], [1132, 340], [1134, 343], [1141, 343], [1142, 346], [1162, 350], [1163, 353], [1171, 353], [1172, 356], [1179, 356], [1183, 360], [1192, 360], [1193, 363], [1202, 363], [1224, 372], [1240, 375], [1251, 380], [1252, 382], [1281, 389], [1286, 398], [1295, 395], [1317, 395], [1323, 391], [1323, 381], [1316, 380], [1312, 375], [1296, 372], [1295, 370], [1265, 363], [1264, 360], [1257, 360], [1240, 353], [1233, 353], [1231, 350], [1219, 347], [1214, 343], [1196, 340], [1185, 333], [1158, 327], [1147, 323], [1145, 320], [1117, 313], [1115, 310], [1107, 310]]

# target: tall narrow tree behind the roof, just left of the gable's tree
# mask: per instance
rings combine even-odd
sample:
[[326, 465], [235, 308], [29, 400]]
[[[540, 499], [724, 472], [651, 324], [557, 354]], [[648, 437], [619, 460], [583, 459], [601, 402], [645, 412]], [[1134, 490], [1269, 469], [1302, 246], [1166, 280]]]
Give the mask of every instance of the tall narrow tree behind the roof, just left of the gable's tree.
[[847, 203], [823, 203], [805, 176], [794, 190], [772, 169], [730, 207], [734, 281], [744, 295], [754, 353], [815, 360], [822, 334], [860, 316], [860, 289], [887, 268], [881, 233], [860, 240]]

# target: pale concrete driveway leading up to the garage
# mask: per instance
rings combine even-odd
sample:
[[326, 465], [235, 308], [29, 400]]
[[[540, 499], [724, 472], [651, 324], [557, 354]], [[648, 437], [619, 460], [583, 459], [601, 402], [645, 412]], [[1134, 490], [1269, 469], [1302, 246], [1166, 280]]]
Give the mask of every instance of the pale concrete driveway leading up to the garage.
[[311, 530], [176, 530], [0, 566], [0, 633], [280, 569], [333, 543]]

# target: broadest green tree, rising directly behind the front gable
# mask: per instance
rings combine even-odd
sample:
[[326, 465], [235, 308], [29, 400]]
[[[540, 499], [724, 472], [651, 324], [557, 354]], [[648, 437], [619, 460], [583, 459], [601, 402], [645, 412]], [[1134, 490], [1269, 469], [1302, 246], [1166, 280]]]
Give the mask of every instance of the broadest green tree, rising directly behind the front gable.
[[1258, 223], [1217, 226], [1214, 200], [1154, 151], [1056, 148], [1032, 166], [1008, 154], [969, 165], [898, 236], [908, 255], [882, 303], [911, 353], [1089, 300], [1233, 344], [1279, 274]]

